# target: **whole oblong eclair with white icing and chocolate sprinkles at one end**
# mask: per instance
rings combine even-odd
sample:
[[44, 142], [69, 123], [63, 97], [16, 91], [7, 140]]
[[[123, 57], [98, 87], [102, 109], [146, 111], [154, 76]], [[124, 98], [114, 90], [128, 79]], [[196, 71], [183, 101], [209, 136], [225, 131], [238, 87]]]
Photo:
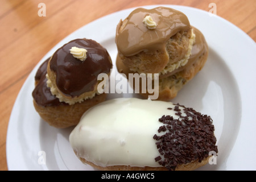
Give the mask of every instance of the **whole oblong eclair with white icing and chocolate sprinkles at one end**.
[[69, 142], [101, 170], [193, 170], [218, 152], [212, 122], [171, 102], [115, 98], [86, 111]]

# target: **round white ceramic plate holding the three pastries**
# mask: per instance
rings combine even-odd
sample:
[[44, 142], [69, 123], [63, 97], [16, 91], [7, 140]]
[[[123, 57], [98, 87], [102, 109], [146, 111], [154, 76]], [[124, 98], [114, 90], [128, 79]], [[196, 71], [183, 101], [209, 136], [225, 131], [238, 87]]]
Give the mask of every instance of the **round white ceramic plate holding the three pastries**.
[[[171, 6], [186, 14], [192, 26], [203, 32], [209, 45], [209, 59], [201, 72], [179, 92], [172, 102], [193, 107], [213, 118], [218, 144], [217, 164], [202, 170], [256, 169], [255, 42], [234, 26], [208, 12], [184, 6]], [[144, 6], [151, 9], [156, 6]], [[133, 9], [100, 18], [73, 32], [51, 49], [28, 76], [11, 113], [6, 151], [9, 170], [94, 170], [76, 158], [69, 146], [72, 128], [55, 129], [40, 119], [32, 105], [34, 76], [41, 63], [57, 48], [76, 38], [94, 39], [108, 49], [115, 62], [115, 27]], [[114, 70], [110, 80], [115, 78]], [[136, 94], [109, 94], [137, 97]]]

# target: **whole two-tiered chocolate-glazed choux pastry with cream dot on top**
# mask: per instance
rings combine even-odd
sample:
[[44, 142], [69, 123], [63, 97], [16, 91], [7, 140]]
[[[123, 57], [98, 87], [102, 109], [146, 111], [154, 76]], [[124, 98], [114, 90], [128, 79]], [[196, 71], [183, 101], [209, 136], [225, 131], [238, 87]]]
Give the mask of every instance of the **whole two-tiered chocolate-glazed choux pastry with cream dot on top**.
[[105, 101], [97, 92], [100, 73], [110, 75], [108, 51], [90, 39], [75, 39], [57, 49], [39, 67], [32, 92], [40, 117], [57, 128], [77, 125], [90, 107]]

